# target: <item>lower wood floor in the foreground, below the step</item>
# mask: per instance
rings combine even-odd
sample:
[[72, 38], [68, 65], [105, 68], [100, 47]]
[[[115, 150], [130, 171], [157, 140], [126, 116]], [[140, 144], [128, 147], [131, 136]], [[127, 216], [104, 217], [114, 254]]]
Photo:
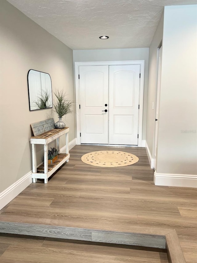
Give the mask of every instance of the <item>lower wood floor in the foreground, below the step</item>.
[[0, 235], [1, 263], [167, 263], [160, 249], [42, 237]]

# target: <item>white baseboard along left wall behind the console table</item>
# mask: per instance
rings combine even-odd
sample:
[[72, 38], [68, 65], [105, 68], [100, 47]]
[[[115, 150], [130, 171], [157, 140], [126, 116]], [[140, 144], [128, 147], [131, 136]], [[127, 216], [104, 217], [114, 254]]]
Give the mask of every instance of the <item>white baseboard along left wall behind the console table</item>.
[[[72, 149], [75, 145], [76, 138], [69, 142], [69, 150]], [[63, 152], [64, 150], [66, 150], [66, 146], [62, 147], [62, 149], [60, 149], [60, 152]], [[10, 187], [0, 193], [0, 210], [32, 183], [31, 173], [32, 171], [24, 175], [21, 179], [19, 179], [17, 182], [13, 183]]]

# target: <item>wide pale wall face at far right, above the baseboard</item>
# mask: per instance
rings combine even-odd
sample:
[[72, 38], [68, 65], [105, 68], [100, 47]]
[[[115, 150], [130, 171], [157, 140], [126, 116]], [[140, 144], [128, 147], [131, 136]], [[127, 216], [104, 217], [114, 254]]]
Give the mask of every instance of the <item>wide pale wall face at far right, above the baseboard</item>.
[[197, 5], [164, 9], [157, 173], [197, 175]]

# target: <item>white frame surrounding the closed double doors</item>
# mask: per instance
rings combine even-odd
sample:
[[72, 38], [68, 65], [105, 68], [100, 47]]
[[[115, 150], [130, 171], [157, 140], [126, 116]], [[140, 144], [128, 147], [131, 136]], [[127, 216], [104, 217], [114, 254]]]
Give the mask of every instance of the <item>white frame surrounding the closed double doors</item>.
[[142, 144], [142, 121], [143, 121], [143, 95], [144, 95], [144, 60], [126, 60], [126, 61], [92, 61], [75, 62], [75, 102], [76, 102], [76, 130], [77, 145], [81, 144], [80, 138], [80, 110], [79, 110], [79, 66], [111, 66], [111, 65], [140, 65], [140, 83], [139, 83], [139, 121], [138, 121], [138, 147]]

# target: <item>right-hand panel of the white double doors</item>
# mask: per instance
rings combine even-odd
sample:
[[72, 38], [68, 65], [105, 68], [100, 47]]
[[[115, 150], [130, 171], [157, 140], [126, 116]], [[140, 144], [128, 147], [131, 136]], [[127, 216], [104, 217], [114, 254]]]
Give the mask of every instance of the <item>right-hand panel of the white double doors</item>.
[[109, 144], [138, 145], [140, 65], [109, 66]]

